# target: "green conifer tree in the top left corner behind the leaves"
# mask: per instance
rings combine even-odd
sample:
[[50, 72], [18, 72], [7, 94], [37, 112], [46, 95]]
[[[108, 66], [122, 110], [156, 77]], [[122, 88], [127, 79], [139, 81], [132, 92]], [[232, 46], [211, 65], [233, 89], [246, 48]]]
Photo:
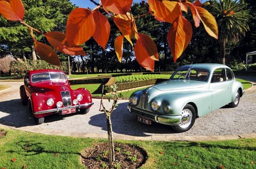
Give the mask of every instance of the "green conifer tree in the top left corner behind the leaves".
[[[69, 13], [76, 8], [69, 0], [24, 0], [24, 21], [41, 32], [65, 32]], [[41, 35], [35, 35], [38, 41], [46, 43]], [[8, 21], [0, 16], [1, 55], [13, 54], [14, 57], [31, 58], [34, 42], [27, 27], [16, 21]], [[3, 53], [3, 54], [2, 54]]]

